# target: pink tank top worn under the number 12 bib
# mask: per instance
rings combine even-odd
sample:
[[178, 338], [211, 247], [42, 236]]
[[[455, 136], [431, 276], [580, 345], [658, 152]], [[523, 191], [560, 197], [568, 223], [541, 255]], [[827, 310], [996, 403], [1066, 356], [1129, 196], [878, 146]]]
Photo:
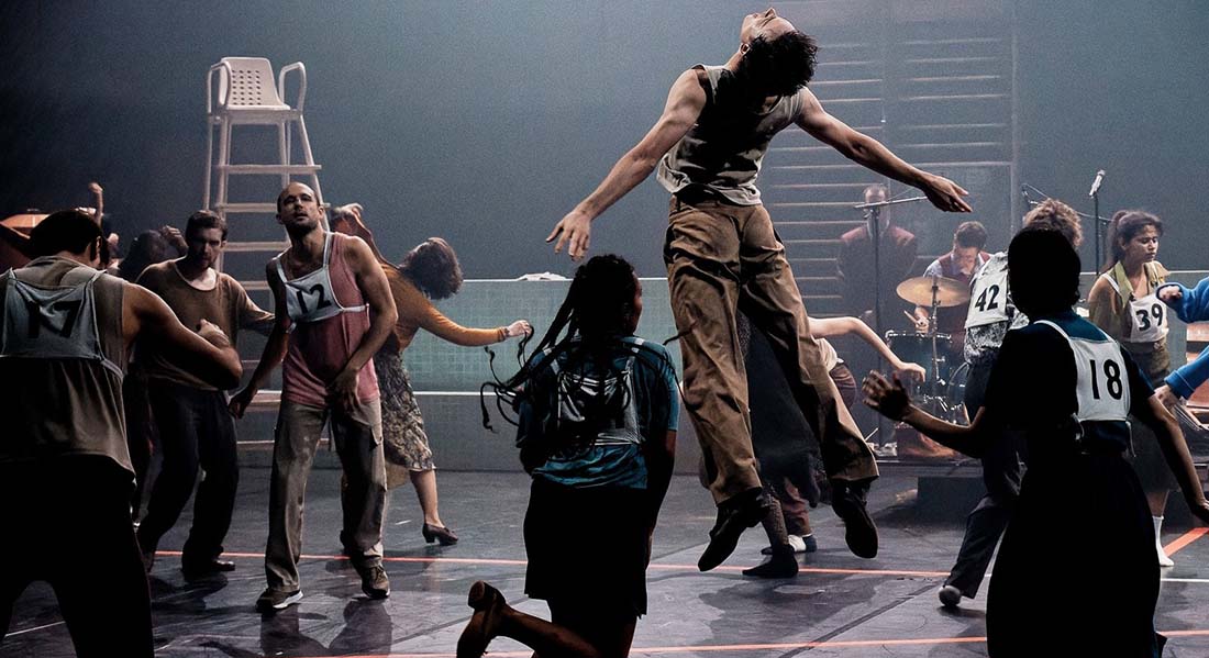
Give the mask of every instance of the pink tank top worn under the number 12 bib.
[[[326, 407], [328, 384], [345, 368], [348, 357], [370, 328], [365, 297], [357, 287], [353, 270], [345, 262], [347, 239], [340, 233], [330, 234], [326, 244], [329, 254], [324, 255], [323, 266], [328, 269], [336, 303], [346, 310], [313, 322], [296, 322], [290, 331], [289, 349], [282, 366], [282, 397], [290, 402]], [[284, 274], [284, 270], [279, 272]], [[313, 275], [311, 273], [300, 279]], [[377, 397], [377, 374], [374, 372], [374, 360], [370, 359], [357, 373], [357, 398], [371, 402]]]

